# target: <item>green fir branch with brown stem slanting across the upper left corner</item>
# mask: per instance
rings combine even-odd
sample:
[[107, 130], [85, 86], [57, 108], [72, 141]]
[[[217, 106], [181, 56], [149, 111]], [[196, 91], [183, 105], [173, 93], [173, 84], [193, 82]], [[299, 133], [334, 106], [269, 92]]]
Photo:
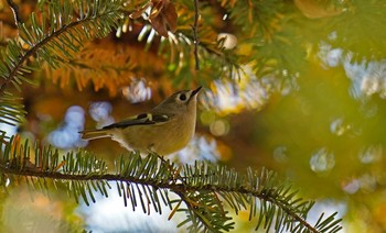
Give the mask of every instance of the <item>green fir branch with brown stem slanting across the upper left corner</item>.
[[[3, 52], [2, 54], [6, 60], [1, 66], [6, 73], [2, 75], [4, 80], [0, 86], [0, 96], [3, 95], [6, 88], [10, 84], [19, 86], [20, 80], [26, 81], [22, 75], [26, 70], [31, 70], [31, 67], [25, 67], [25, 62], [31, 56], [37, 54], [40, 55], [40, 58], [44, 59], [55, 68], [57, 67], [57, 60], [53, 54], [55, 48], [57, 48], [57, 51], [55, 51], [56, 53], [62, 52], [63, 56], [69, 57], [71, 54], [67, 49], [74, 52], [78, 51], [78, 47], [75, 46], [73, 42], [76, 42], [78, 46], [82, 46], [81, 43], [83, 36], [92, 38], [106, 35], [107, 32], [111, 31], [111, 27], [117, 27], [117, 20], [122, 14], [120, 1], [108, 2], [94, 0], [87, 1], [86, 7], [83, 2], [76, 3], [78, 3], [79, 7], [79, 16], [77, 16], [75, 21], [72, 21], [73, 12], [71, 12], [73, 10], [72, 4], [75, 3], [64, 1], [62, 7], [61, 1], [53, 1], [49, 5], [49, 12], [51, 13], [50, 22], [45, 22], [46, 19], [43, 16], [43, 22], [40, 25], [36, 22], [35, 14], [32, 14], [31, 31], [29, 31], [24, 24], [21, 25], [22, 34], [24, 35], [22, 36], [22, 40], [30, 46], [30, 48], [23, 52], [22, 45], [20, 45], [17, 40], [9, 43], [7, 52]], [[83, 26], [84, 34], [81, 34], [78, 31], [77, 27], [79, 26]]]

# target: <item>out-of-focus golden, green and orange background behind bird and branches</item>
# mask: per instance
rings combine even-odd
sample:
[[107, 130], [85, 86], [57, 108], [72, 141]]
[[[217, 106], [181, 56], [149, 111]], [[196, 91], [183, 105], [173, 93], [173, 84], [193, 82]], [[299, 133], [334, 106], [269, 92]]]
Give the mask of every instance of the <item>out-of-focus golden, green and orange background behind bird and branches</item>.
[[[25, 20], [36, 8], [35, 1], [14, 2]], [[146, 2], [128, 1], [128, 9]], [[124, 148], [109, 140], [83, 141], [77, 132], [144, 112], [178, 90], [202, 85], [196, 135], [171, 156], [175, 162], [207, 159], [239, 171], [267, 167], [292, 180], [301, 197], [318, 201], [311, 221], [339, 211], [343, 232], [385, 232], [386, 2], [247, 2], [200, 1], [200, 70], [192, 1], [171, 3], [178, 18], [169, 20], [178, 27], [168, 37], [151, 26], [146, 11], [140, 19], [127, 18], [108, 37], [88, 42], [68, 65], [34, 73], [36, 85], [21, 91], [25, 123], [0, 124], [1, 130], [63, 152], [87, 148], [112, 163]], [[17, 29], [4, 1], [0, 20], [6, 46]], [[164, 220], [161, 231], [174, 232], [181, 221], [168, 222], [168, 214], [140, 218], [141, 211], [124, 208], [114, 190], [90, 207], [60, 191], [50, 199], [30, 196], [21, 187], [1, 193], [3, 229], [160, 231]], [[23, 207], [15, 207], [21, 200]], [[248, 212], [236, 220], [239, 231], [254, 229]]]

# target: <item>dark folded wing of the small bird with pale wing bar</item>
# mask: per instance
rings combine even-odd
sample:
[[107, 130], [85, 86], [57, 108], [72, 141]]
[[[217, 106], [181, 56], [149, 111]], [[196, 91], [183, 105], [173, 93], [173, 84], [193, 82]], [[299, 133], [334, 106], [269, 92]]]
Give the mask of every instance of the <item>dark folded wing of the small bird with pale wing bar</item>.
[[172, 115], [160, 113], [142, 113], [133, 115], [124, 121], [104, 126], [103, 130], [110, 130], [116, 127], [128, 127], [132, 125], [147, 125], [147, 124], [164, 124], [172, 119]]

